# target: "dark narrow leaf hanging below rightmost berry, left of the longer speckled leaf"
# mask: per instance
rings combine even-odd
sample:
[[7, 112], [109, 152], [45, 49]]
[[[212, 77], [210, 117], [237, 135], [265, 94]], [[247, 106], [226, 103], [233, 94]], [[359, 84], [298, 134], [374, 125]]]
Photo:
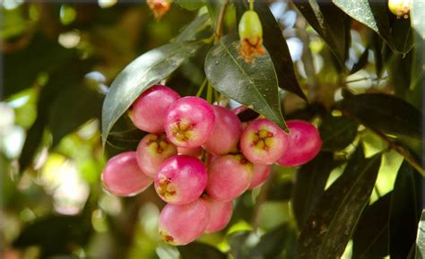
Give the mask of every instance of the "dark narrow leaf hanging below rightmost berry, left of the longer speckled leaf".
[[299, 168], [292, 194], [293, 212], [299, 229], [302, 229], [308, 216], [321, 195], [325, 192], [327, 178], [341, 162], [334, 160], [332, 152], [320, 152], [314, 160]]

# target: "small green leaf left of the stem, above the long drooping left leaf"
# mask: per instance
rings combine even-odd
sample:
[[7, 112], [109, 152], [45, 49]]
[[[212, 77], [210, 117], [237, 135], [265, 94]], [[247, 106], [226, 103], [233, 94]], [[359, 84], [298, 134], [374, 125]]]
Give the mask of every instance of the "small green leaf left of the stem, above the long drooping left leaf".
[[181, 30], [177, 41], [204, 39], [212, 35], [212, 22], [208, 13], [204, 13]]

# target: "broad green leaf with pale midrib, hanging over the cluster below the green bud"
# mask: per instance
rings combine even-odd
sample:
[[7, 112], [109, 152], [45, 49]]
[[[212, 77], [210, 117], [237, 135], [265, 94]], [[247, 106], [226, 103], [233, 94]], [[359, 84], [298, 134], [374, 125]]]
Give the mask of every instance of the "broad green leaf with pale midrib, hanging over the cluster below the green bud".
[[286, 129], [272, 59], [265, 53], [251, 63], [239, 57], [239, 40], [222, 38], [205, 58], [212, 86], [230, 99], [247, 105]]

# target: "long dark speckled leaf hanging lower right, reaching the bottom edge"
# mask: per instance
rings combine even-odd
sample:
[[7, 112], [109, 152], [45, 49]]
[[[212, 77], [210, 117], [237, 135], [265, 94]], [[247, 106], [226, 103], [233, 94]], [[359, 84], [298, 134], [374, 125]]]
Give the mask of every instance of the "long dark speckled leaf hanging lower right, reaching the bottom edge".
[[317, 202], [299, 236], [299, 259], [334, 259], [343, 255], [360, 213], [369, 202], [380, 155], [365, 159], [359, 146], [343, 175]]

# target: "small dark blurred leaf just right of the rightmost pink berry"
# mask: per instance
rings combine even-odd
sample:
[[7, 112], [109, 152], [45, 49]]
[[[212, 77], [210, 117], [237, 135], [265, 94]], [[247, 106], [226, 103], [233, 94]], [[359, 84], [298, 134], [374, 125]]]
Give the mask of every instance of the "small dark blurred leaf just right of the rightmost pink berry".
[[326, 114], [319, 127], [323, 139], [322, 150], [343, 150], [354, 141], [358, 126], [355, 121], [346, 117], [333, 117], [331, 114]]

